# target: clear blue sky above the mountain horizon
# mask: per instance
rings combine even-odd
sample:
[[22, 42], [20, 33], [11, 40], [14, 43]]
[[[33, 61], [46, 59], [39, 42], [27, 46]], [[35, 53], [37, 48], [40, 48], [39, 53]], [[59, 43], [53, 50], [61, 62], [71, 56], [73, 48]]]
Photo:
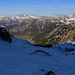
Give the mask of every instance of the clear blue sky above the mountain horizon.
[[0, 0], [0, 15], [69, 15], [75, 12], [75, 0]]

